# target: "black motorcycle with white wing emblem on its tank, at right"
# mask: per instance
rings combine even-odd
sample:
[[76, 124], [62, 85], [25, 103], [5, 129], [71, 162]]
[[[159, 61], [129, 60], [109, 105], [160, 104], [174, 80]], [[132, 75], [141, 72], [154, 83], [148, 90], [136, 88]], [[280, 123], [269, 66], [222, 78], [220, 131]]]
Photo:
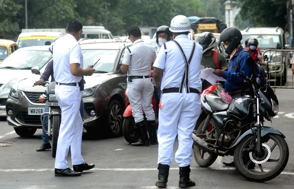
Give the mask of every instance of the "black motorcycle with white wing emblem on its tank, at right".
[[[272, 117], [278, 114], [278, 99], [270, 85], [258, 84], [258, 65], [251, 57], [247, 64], [253, 67], [252, 76], [238, 75], [251, 87], [251, 95], [235, 98], [231, 103], [223, 102], [216, 94], [201, 95], [202, 109], [208, 116], [192, 135], [193, 153], [201, 167], [211, 166], [218, 156], [233, 156], [235, 167], [243, 177], [265, 182], [284, 170], [289, 149], [280, 131], [263, 126], [264, 119], [272, 122]], [[273, 141], [271, 147], [269, 141]], [[280, 155], [275, 158], [273, 150], [277, 146], [279, 150], [274, 153]]]

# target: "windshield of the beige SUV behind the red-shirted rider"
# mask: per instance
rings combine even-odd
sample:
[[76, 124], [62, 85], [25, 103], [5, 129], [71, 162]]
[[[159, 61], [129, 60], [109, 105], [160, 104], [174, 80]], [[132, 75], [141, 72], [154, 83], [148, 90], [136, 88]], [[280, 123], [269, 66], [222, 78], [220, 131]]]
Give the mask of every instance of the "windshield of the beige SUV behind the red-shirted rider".
[[[246, 38], [252, 37], [258, 40], [258, 47], [261, 49], [281, 49], [281, 41], [279, 35], [243, 35], [242, 41], [244, 42]], [[244, 46], [245, 44], [243, 44]]]

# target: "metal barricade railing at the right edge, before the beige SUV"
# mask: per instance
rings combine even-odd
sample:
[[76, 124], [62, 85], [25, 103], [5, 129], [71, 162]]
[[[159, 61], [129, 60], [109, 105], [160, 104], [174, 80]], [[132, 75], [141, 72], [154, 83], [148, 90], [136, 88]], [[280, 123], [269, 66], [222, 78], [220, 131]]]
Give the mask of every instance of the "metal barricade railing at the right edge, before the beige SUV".
[[294, 88], [292, 69], [289, 67], [294, 50], [268, 49], [263, 52], [268, 83], [274, 88]]

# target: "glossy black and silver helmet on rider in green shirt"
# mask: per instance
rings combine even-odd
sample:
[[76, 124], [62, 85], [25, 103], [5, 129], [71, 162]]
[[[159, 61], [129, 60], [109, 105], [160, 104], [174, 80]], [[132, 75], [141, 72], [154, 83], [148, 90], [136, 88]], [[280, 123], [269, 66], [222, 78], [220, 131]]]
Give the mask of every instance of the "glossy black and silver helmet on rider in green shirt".
[[210, 32], [200, 33], [195, 42], [198, 42], [203, 47], [203, 54], [214, 49], [216, 46], [216, 36]]

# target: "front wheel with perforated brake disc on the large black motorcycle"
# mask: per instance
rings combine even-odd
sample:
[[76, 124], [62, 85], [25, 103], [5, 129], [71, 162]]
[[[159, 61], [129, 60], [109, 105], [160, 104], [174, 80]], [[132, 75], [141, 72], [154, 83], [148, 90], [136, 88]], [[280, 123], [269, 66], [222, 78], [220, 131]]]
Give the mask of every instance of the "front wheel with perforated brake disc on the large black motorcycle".
[[[234, 152], [235, 167], [249, 181], [266, 182], [271, 180], [284, 170], [288, 162], [289, 149], [282, 136], [268, 134], [262, 137], [261, 142], [261, 154], [258, 154], [255, 150], [249, 150], [252, 144], [257, 144], [253, 135], [246, 136]], [[248, 168], [248, 165], [252, 162], [256, 164], [255, 169]]]

